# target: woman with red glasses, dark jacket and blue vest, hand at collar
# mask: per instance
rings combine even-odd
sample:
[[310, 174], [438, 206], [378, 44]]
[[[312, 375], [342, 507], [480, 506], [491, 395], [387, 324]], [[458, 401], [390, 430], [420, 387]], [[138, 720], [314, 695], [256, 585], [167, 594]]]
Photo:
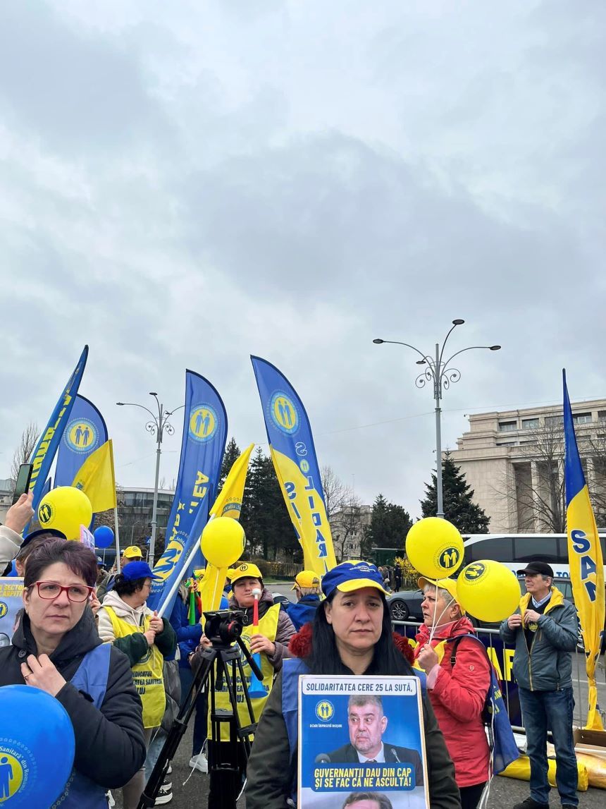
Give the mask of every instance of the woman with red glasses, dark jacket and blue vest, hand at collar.
[[0, 686], [40, 688], [61, 702], [74, 726], [74, 771], [61, 809], [107, 809], [106, 791], [127, 783], [145, 760], [128, 658], [101, 642], [88, 608], [96, 576], [95, 554], [79, 542], [36, 548], [27, 559], [12, 646], [0, 649]]

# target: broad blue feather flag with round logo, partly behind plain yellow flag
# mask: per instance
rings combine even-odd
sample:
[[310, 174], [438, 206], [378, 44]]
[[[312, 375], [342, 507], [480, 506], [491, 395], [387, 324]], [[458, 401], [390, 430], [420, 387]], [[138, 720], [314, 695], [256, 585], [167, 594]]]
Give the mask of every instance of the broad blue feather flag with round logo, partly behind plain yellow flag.
[[106, 441], [107, 426], [103, 416], [91, 401], [78, 393], [59, 444], [54, 485], [72, 485], [90, 453]]

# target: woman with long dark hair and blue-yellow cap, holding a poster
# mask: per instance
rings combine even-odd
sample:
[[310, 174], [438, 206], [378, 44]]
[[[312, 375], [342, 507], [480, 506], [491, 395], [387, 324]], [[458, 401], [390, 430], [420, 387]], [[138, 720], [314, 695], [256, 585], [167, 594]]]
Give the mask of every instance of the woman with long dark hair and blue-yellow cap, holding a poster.
[[[414, 674], [406, 651], [393, 640], [383, 578], [375, 565], [363, 561], [336, 565], [322, 578], [322, 592], [326, 599], [318, 607], [313, 629], [306, 625], [288, 647], [299, 660], [284, 660], [263, 709], [246, 769], [246, 809], [296, 805], [288, 801], [296, 801], [297, 796], [301, 674]], [[423, 724], [431, 809], [460, 809], [454, 767], [427, 694], [423, 694]]]

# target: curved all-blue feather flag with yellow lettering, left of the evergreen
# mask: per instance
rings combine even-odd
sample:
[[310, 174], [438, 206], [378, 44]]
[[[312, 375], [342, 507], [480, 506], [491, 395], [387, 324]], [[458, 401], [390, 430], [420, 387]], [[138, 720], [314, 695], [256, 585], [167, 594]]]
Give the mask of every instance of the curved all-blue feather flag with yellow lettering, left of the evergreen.
[[[159, 580], [147, 599], [150, 609], [162, 604], [164, 593], [170, 591], [206, 525], [208, 510], [217, 497], [226, 438], [227, 414], [221, 396], [208, 379], [186, 371], [179, 477], [166, 527], [166, 546], [154, 565]], [[171, 608], [171, 604], [166, 605], [166, 615]]]

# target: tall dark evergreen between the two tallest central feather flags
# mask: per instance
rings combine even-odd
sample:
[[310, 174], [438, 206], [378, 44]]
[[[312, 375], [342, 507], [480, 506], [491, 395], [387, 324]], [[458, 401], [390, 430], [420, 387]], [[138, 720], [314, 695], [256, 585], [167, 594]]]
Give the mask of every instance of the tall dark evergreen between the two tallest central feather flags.
[[280, 484], [271, 462], [257, 447], [250, 460], [240, 519], [250, 555], [267, 561], [288, 555], [300, 561], [301, 546], [284, 504]]

